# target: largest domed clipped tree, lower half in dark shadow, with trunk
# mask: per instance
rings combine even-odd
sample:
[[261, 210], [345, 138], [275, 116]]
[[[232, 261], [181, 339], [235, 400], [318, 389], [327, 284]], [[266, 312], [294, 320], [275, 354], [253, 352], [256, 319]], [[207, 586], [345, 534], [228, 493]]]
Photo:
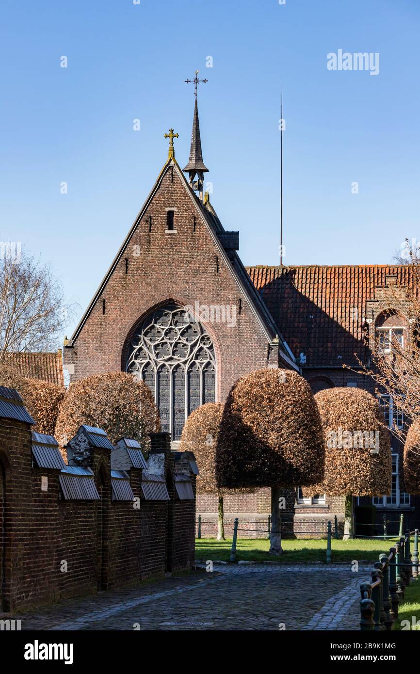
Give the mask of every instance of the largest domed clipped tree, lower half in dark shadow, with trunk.
[[282, 369], [241, 377], [222, 414], [216, 483], [219, 489], [271, 487], [271, 553], [282, 553], [281, 488], [313, 485], [323, 474], [320, 414], [307, 381]]

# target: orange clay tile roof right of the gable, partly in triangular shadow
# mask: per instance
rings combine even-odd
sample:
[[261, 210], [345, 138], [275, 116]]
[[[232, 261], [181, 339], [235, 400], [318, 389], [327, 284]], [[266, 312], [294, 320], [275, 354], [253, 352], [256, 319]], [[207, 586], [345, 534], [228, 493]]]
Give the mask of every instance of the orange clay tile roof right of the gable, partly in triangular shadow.
[[247, 272], [293, 355], [306, 366], [357, 365], [367, 361], [363, 340], [366, 302], [386, 276], [410, 286], [411, 269], [400, 265], [247, 267]]

